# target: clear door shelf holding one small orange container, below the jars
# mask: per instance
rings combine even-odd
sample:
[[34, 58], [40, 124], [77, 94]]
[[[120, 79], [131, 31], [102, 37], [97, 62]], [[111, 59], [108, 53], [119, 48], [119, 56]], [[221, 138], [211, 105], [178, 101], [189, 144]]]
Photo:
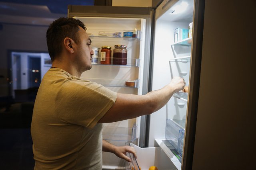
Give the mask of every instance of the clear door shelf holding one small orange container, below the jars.
[[123, 80], [123, 79], [103, 79], [103, 78], [85, 78], [80, 77], [82, 80], [89, 80], [91, 82], [96, 82], [101, 84], [102, 86], [109, 86], [109, 87], [128, 87], [128, 88], [139, 88], [140, 87], [140, 80], [134, 80], [134, 85], [130, 83], [129, 86], [126, 86], [126, 82], [130, 82], [131, 80]]

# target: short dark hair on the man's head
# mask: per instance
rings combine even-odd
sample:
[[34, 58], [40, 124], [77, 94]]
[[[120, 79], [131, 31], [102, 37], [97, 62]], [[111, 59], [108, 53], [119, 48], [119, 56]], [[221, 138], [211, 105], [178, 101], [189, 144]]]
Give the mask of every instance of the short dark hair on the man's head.
[[62, 51], [61, 44], [66, 37], [73, 39], [75, 43], [80, 43], [77, 34], [79, 31], [78, 26], [86, 30], [84, 23], [74, 18], [59, 18], [51, 23], [46, 32], [46, 41], [52, 61], [54, 61], [57, 55], [60, 55]]

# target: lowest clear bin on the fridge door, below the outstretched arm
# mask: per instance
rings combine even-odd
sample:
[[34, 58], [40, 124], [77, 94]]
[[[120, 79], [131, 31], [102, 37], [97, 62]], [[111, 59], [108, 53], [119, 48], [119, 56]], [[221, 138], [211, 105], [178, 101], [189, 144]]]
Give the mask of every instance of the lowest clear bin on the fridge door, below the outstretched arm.
[[133, 127], [103, 126], [102, 137], [104, 140], [133, 142], [136, 140], [136, 128], [136, 124]]

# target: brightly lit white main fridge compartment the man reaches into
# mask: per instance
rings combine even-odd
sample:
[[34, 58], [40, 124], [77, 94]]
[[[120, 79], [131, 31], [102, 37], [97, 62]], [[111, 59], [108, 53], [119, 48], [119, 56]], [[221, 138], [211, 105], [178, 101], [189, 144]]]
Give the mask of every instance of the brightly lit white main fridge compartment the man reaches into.
[[178, 170], [182, 168], [191, 81], [193, 10], [193, 0], [165, 0], [156, 8], [155, 18], [152, 90], [178, 76], [185, 80], [186, 91], [175, 93], [151, 115], [149, 146], [160, 146]]

